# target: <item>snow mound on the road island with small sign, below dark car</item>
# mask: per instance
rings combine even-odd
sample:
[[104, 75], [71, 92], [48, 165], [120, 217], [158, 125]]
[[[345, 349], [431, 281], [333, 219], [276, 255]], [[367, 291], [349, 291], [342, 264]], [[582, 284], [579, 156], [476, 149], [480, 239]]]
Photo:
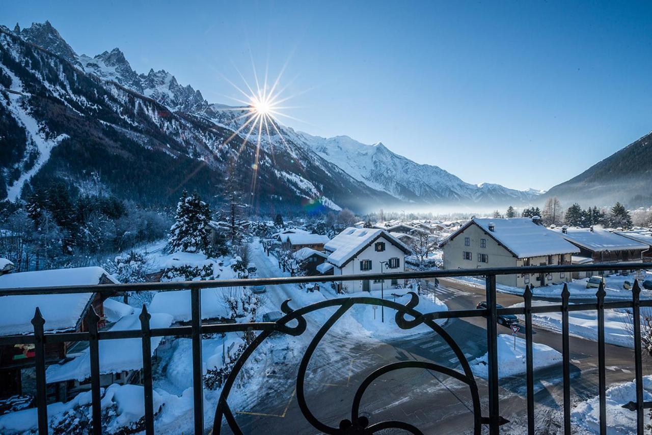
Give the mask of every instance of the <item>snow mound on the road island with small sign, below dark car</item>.
[[[514, 349], [516, 339], [516, 349]], [[498, 335], [498, 376], [516, 376], [526, 372], [526, 341], [509, 334]], [[532, 343], [532, 361], [535, 370], [559, 363], [562, 356], [550, 346]], [[488, 377], [488, 353], [471, 361], [471, 370], [476, 376]]]

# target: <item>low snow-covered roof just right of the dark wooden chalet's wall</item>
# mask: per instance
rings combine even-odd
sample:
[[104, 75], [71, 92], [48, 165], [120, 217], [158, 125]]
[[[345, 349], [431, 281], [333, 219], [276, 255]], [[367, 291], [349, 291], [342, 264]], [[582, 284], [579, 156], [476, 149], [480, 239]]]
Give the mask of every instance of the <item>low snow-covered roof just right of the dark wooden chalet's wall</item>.
[[[140, 330], [139, 314], [124, 316], [110, 331]], [[172, 324], [172, 316], [163, 313], [153, 313], [149, 319], [150, 328], [168, 328]], [[163, 337], [152, 337], [152, 354]], [[100, 341], [100, 374], [117, 373], [128, 370], [140, 370], [143, 367], [143, 349], [141, 339], [117, 339]], [[91, 376], [91, 359], [89, 350], [67, 363], [53, 364], [46, 371], [48, 382], [65, 380], [82, 381]]]

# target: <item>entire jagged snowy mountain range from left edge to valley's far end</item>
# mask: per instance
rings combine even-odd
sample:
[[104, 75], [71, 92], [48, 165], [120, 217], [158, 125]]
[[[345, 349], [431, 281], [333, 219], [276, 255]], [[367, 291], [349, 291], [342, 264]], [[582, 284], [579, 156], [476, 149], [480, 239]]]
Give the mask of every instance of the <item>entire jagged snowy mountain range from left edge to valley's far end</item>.
[[219, 195], [226, 176], [262, 212], [502, 208], [543, 199], [535, 189], [466, 183], [382, 143], [278, 124], [256, 150], [256, 132], [248, 141], [246, 129], [237, 133], [247, 107], [211, 104], [165, 70], [138, 74], [118, 48], [78, 55], [49, 21], [0, 27], [0, 79], [0, 199], [57, 177], [82, 191], [172, 204], [184, 188]]

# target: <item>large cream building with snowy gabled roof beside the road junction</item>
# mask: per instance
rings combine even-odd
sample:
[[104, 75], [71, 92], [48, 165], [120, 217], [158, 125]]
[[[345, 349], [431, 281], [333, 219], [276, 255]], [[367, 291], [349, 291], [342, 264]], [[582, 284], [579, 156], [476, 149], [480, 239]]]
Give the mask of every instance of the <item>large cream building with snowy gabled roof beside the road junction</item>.
[[[580, 252], [529, 218], [473, 218], [443, 240], [445, 269], [473, 269], [570, 264]], [[496, 282], [511, 287], [542, 286], [570, 281], [568, 274], [497, 275]]]

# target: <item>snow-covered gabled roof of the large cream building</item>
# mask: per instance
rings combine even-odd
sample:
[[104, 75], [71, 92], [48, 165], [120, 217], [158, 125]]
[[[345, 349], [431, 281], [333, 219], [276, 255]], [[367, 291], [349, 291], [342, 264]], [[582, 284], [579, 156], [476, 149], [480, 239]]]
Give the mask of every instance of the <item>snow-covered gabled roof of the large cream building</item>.
[[[489, 230], [490, 223], [493, 224], [494, 231]], [[462, 234], [470, 225], [480, 227], [488, 236], [519, 259], [580, 252], [576, 246], [564, 240], [561, 233], [537, 225], [529, 218], [473, 218], [441, 242], [439, 246], [443, 247], [449, 240]]]

